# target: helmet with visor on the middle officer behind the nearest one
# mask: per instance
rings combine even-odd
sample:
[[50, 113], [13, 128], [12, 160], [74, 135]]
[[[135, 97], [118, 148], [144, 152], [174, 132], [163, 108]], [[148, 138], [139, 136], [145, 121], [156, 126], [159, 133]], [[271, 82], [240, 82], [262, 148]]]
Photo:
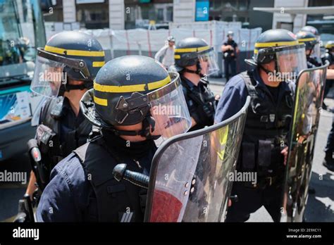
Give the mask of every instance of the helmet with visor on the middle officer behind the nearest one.
[[[218, 71], [214, 47], [197, 37], [187, 37], [178, 42], [174, 49], [174, 59], [175, 65], [171, 70], [175, 69], [178, 72], [184, 70], [201, 75], [201, 71], [205, 70], [206, 75], [211, 75]], [[191, 65], [197, 65], [197, 70], [187, 69], [187, 66]]]

